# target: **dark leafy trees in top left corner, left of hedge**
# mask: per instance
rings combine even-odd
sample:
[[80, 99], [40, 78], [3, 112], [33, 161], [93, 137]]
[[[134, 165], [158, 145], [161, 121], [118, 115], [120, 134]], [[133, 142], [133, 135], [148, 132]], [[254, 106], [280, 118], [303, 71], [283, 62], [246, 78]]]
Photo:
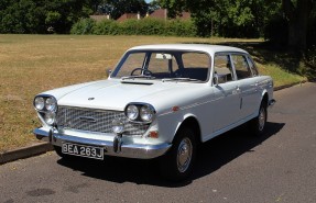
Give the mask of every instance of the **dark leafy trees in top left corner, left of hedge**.
[[1, 0], [0, 33], [68, 33], [90, 8], [89, 0]]

